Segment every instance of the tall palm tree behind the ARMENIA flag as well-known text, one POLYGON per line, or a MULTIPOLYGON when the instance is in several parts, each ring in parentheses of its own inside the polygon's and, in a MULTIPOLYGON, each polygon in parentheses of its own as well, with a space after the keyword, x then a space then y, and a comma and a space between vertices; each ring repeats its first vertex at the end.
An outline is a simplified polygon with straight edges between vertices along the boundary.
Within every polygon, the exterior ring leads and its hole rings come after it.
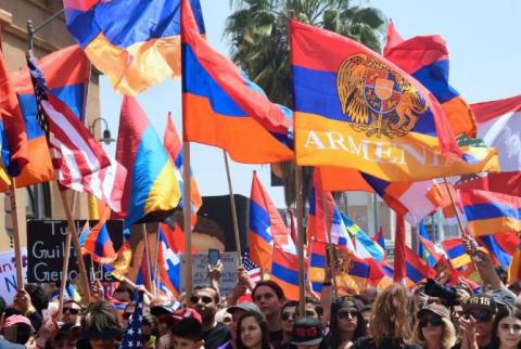
MULTIPOLYGON (((381 52, 385 18, 373 8, 350 7, 348 0, 230 0, 234 12, 225 35, 231 57, 276 103, 291 106, 288 13, 296 18, 357 40, 381 52)), ((281 164, 288 206, 295 202, 294 167, 281 164)), ((304 193, 310 186, 312 169, 303 171, 304 193)))

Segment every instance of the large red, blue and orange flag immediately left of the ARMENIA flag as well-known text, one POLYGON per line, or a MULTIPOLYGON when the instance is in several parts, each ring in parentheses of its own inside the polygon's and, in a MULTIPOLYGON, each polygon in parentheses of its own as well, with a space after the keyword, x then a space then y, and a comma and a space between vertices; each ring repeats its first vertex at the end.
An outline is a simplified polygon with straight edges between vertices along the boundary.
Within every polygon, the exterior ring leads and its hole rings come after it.
POLYGON ((183 138, 226 150, 239 163, 265 164, 293 157, 287 108, 201 37, 189 2, 182 1, 183 138))

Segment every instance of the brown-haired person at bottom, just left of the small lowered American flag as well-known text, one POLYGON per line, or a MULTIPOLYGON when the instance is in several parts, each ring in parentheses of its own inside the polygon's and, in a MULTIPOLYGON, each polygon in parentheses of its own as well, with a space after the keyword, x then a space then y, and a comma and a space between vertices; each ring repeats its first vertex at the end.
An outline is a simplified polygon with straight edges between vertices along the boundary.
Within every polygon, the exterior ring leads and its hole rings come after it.
POLYGON ((124 328, 119 326, 117 311, 105 300, 89 303, 81 319, 81 332, 92 349, 115 349, 124 328))

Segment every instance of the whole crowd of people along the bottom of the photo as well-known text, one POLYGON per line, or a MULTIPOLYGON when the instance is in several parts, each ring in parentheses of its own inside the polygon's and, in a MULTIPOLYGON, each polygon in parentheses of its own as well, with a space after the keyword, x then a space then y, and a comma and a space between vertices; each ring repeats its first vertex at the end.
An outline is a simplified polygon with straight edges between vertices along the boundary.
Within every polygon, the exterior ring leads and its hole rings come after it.
POLYGON ((336 295, 328 271, 320 297, 309 293, 303 307, 272 281, 254 284, 242 268, 236 290, 221 297, 219 264, 208 267, 207 285, 178 299, 136 301, 143 288, 124 284, 106 295, 96 281, 88 303, 67 299, 60 314, 43 287, 29 284, 1 309, 0 348, 521 348, 521 282, 506 284, 485 253, 473 257, 479 293, 428 280, 336 295), (135 316, 138 328, 129 326, 135 316), (138 339, 125 339, 129 332, 138 339))

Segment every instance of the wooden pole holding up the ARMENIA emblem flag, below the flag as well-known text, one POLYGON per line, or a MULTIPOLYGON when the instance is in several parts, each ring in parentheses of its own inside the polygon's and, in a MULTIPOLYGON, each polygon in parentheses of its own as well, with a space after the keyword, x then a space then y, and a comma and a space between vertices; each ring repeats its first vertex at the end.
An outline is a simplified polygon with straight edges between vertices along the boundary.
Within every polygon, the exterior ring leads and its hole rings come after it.
POLYGON ((296 240, 298 255, 298 312, 301 316, 306 313, 305 286, 304 286, 304 203, 302 199, 302 167, 295 163, 295 193, 296 193, 296 240))

